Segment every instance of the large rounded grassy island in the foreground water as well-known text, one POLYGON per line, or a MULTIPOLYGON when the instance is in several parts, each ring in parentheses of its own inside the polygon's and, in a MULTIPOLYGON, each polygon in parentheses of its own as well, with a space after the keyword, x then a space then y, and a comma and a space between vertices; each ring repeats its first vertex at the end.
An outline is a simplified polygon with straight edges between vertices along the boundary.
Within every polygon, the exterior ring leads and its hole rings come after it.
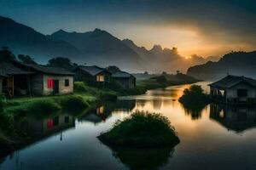
POLYGON ((124 121, 116 122, 98 139, 104 144, 126 147, 175 146, 180 142, 177 133, 166 116, 136 111, 124 121))

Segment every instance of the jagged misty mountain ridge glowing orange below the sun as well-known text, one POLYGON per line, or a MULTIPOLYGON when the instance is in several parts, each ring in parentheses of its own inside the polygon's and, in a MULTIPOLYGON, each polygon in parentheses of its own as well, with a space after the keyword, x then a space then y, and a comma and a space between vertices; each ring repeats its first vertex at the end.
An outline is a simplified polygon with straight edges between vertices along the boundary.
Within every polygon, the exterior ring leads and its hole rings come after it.
POLYGON ((154 72, 161 71, 187 71, 191 65, 200 65, 206 63, 206 59, 193 55, 190 59, 178 54, 177 48, 162 48, 160 45, 154 45, 151 49, 138 47, 130 39, 125 39, 124 42, 128 47, 139 54, 142 59, 148 64, 148 68, 154 72))

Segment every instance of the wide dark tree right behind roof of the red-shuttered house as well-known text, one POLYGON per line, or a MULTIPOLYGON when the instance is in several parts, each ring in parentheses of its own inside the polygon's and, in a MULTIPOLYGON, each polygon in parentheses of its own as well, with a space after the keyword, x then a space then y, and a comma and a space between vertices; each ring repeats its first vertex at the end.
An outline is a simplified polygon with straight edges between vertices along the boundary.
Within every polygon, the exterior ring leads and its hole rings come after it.
POLYGON ((64 57, 57 57, 54 59, 49 59, 47 65, 53 66, 53 67, 64 68, 68 71, 72 71, 76 66, 78 66, 76 63, 71 62, 70 59, 67 59, 64 57))

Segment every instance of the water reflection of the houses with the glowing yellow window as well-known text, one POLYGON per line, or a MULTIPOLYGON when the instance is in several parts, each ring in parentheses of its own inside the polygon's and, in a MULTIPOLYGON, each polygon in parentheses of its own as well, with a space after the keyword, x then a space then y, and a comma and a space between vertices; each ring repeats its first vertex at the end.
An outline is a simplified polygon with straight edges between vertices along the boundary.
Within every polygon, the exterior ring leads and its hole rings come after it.
POLYGON ((113 112, 122 111, 128 113, 134 107, 135 100, 117 100, 117 102, 98 105, 96 108, 87 111, 85 115, 80 118, 80 121, 93 122, 95 124, 105 122, 112 116, 113 112))

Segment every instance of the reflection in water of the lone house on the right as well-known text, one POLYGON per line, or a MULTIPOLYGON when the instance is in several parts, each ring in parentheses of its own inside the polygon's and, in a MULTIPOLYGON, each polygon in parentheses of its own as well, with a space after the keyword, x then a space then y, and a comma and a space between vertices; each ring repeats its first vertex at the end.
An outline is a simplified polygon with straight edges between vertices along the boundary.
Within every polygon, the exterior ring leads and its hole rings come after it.
POLYGON ((229 130, 240 133, 256 127, 256 108, 229 105, 210 105, 210 118, 229 130))

